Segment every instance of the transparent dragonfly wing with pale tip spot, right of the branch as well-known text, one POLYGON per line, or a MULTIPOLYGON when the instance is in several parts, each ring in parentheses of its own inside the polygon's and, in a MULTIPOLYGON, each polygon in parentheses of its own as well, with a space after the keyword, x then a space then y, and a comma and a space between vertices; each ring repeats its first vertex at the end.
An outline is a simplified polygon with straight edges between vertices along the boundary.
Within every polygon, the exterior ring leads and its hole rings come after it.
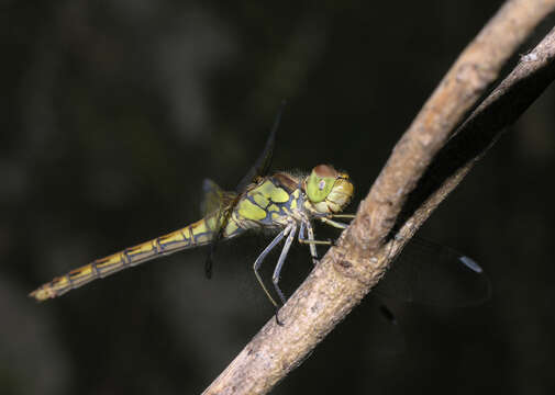
POLYGON ((392 262, 376 292, 404 302, 464 307, 487 301, 491 285, 471 258, 446 246, 413 238, 392 262))

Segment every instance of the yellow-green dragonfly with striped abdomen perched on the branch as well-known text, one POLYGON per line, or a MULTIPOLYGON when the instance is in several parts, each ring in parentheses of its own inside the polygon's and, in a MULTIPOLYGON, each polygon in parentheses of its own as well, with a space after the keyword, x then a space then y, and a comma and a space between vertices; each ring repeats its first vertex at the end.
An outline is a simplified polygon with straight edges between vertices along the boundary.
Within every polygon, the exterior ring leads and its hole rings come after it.
MULTIPOLYGON (((278 111, 263 153, 243 177, 235 191, 224 191, 215 182, 204 180, 206 215, 201 219, 74 269, 41 285, 31 292, 30 296, 40 302, 55 298, 123 269, 180 250, 207 245, 210 246, 210 251, 206 271, 207 276, 210 276, 213 255, 219 242, 233 239, 247 230, 271 229, 276 236, 254 261, 253 271, 266 296, 276 307, 277 319, 279 306, 286 303, 286 296, 279 286, 280 273, 296 237, 299 244, 309 247, 312 262, 317 264, 319 259, 317 246, 330 246, 333 245, 333 240, 315 239, 313 223, 344 229, 347 224, 337 219, 354 217, 352 214, 343 214, 343 210, 349 204, 354 194, 354 184, 347 172, 338 171, 331 165, 319 165, 308 174, 288 171, 269 174, 276 131, 284 106, 285 103, 278 111), (276 301, 263 281, 259 269, 268 253, 282 241, 284 246, 271 276, 274 291, 278 296, 276 301)), ((475 261, 452 249, 431 244, 424 244, 423 248, 422 245, 419 248, 414 246, 418 247, 418 244, 411 241, 406 249, 415 250, 415 255, 403 253, 401 257, 419 257, 418 262, 439 261, 444 268, 455 268, 458 278, 470 274, 470 283, 474 276, 480 278, 482 274, 481 268, 475 261), (463 272, 463 275, 458 272, 463 272)), ((412 259, 401 259, 401 261, 409 260, 412 259)), ((417 263, 410 267, 399 264, 399 268, 408 267, 418 272, 417 263)), ((418 300, 418 292, 414 292, 412 287, 402 286, 396 292, 404 292, 407 300, 418 300)))

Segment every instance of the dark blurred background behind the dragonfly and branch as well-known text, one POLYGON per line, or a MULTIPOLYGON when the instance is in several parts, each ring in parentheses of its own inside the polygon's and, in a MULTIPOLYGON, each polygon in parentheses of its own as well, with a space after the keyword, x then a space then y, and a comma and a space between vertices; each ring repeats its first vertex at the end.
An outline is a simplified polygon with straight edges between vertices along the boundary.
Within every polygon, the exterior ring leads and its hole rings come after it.
MULTIPOLYGON (((189 250, 59 300, 26 294, 198 219, 202 179, 236 184, 282 98, 274 167, 332 162, 359 200, 501 3, 4 2, 0 393, 200 393, 273 314, 248 240, 225 247, 210 281, 206 250, 189 250)), ((275 394, 555 391, 554 99, 552 87, 421 232, 475 257, 491 300, 398 304, 402 329, 365 301, 275 394)), ((309 270, 296 251, 288 293, 309 270)))

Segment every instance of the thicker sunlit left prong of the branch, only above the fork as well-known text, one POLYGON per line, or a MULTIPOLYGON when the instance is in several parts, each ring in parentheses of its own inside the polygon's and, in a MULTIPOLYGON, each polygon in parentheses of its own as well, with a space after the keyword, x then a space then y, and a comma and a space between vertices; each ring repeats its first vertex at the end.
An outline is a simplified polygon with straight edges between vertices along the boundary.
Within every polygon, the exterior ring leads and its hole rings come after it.
POLYGON ((365 248, 382 242, 432 158, 498 77, 507 59, 553 10, 553 3, 508 1, 460 54, 396 145, 360 205, 356 222, 365 226, 354 238, 365 248))

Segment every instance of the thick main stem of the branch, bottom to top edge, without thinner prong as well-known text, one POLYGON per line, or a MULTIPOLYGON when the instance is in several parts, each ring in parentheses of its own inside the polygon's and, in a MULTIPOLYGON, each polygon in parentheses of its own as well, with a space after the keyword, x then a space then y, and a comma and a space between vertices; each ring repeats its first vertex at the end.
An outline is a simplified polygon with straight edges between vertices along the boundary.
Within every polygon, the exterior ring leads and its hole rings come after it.
MULTIPOLYGON (((270 319, 204 394, 267 393, 302 363, 369 292, 408 240, 402 237, 384 245, 393 225, 399 218, 409 218, 401 230, 403 236, 411 236, 468 171, 464 167, 473 156, 463 158, 463 165, 455 167, 424 198, 413 201, 409 194, 465 113, 497 78, 504 61, 554 8, 555 0, 509 1, 501 8, 460 55, 398 143, 340 245, 330 249, 282 307, 280 318, 285 325, 278 326, 270 319), (411 202, 417 202, 415 210, 406 212, 404 206, 411 202)), ((540 92, 526 93, 532 102, 540 92)), ((452 140, 463 135, 466 135, 464 127, 452 140)))

